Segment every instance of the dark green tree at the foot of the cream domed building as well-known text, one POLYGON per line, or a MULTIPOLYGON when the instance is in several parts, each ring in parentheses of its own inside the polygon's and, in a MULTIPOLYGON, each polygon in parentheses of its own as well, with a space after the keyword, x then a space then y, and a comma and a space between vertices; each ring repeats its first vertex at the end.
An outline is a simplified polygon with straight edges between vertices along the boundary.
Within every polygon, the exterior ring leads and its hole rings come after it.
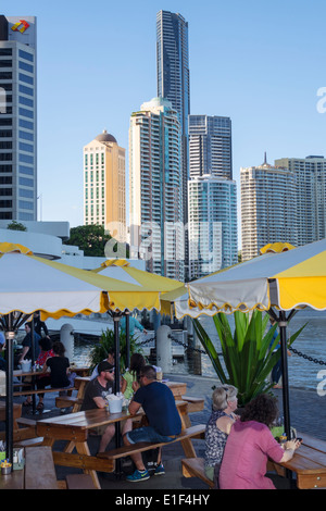
POLYGON ((64 245, 75 245, 84 250, 84 256, 105 257, 104 247, 112 236, 102 225, 79 225, 71 228, 71 237, 64 245))

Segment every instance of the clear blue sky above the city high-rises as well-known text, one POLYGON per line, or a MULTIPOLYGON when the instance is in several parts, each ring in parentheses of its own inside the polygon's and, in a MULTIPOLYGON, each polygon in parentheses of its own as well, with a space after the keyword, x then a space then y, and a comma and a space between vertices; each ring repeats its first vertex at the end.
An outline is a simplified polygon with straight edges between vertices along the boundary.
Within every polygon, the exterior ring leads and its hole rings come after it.
MULTIPOLYGON (((7 2, 7 5, 9 2, 7 2)), ((38 194, 43 221, 83 224, 83 147, 156 96, 155 18, 189 23, 190 111, 233 121, 234 178, 277 158, 326 155, 325 0, 12 0, 38 23, 38 194)), ((39 219, 40 220, 40 219, 39 219)))

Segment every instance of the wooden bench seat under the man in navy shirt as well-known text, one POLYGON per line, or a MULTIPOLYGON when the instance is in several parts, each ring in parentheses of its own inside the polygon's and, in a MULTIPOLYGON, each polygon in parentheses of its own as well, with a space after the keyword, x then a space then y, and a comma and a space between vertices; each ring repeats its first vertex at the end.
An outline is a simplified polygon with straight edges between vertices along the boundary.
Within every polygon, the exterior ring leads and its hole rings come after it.
POLYGON ((164 447, 166 445, 173 444, 175 441, 183 441, 187 438, 202 438, 202 435, 205 432, 204 424, 198 424, 196 426, 187 427, 183 429, 181 433, 172 441, 168 443, 150 443, 150 441, 140 441, 131 446, 123 446, 117 449, 111 449, 110 451, 99 452, 98 458, 105 458, 108 460, 117 460, 118 458, 124 458, 133 454, 134 452, 142 452, 150 449, 156 449, 156 447, 164 447))

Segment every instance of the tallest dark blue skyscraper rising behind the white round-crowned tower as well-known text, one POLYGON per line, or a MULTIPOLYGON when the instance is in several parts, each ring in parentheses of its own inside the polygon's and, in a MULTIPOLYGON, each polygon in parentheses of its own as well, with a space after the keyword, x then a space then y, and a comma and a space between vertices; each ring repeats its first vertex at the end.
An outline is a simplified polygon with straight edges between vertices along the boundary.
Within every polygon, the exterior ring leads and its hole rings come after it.
MULTIPOLYGON (((190 114, 190 76, 188 23, 179 13, 160 11, 156 15, 158 97, 171 101, 179 115, 181 132, 181 186, 184 224, 188 222, 187 182, 188 115, 190 114)), ((187 246, 186 246, 187 257, 187 246)))

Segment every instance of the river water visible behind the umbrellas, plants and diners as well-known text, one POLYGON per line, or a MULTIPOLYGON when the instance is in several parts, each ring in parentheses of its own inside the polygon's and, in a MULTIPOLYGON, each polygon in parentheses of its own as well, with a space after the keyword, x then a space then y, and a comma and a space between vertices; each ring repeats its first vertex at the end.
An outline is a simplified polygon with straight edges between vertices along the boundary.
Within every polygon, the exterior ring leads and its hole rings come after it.
MULTIPOLYGON (((221 345, 216 331, 214 329, 213 320, 206 316, 201 316, 200 321, 206 332, 210 334, 217 352, 221 352, 221 345)), ((231 315, 229 315, 229 322, 231 328, 234 328, 234 320, 231 315)), ((308 357, 311 357, 312 359, 317 359, 326 363, 326 312, 317 312, 311 309, 298 311, 287 327, 287 336, 289 337, 305 323, 308 323, 305 328, 296 339, 292 348, 296 348, 296 350, 304 353, 308 357)), ((91 345, 89 344, 75 344, 74 361, 78 365, 88 364, 88 354, 91 345)), ((317 364, 293 353, 291 357, 288 357, 288 369, 289 383, 290 386, 293 387, 316 389, 318 383, 325 378, 321 371, 325 371, 324 374, 326 375, 325 364, 317 364)), ((191 373, 192 364, 191 361, 188 364, 187 360, 184 360, 183 362, 176 362, 172 369, 172 374, 191 373)), ((215 377, 211 361, 206 354, 201 354, 201 374, 204 376, 215 377)))

